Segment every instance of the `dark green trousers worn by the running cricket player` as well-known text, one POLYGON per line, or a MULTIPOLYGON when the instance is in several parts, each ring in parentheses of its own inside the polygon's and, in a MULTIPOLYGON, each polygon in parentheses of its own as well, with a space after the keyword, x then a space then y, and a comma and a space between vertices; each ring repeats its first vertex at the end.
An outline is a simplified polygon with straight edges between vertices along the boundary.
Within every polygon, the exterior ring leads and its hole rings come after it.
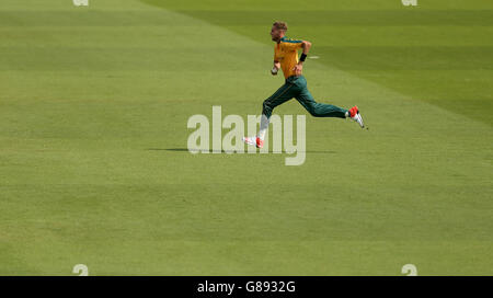
POLYGON ((289 77, 286 83, 279 88, 271 98, 266 99, 263 104, 262 114, 271 117, 272 111, 277 105, 295 98, 310 115, 314 117, 339 117, 345 118, 347 110, 332 105, 318 103, 314 101, 307 88, 307 80, 303 76, 289 77))

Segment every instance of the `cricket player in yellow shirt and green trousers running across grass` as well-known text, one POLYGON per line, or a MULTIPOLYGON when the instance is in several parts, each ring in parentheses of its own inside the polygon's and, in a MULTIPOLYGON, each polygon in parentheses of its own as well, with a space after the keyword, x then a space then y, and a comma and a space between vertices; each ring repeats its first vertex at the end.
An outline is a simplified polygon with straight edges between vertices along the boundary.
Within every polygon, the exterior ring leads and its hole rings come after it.
POLYGON ((276 76, 279 68, 282 68, 286 82, 271 98, 264 101, 259 135, 256 137, 244 137, 244 142, 262 148, 264 146, 265 134, 268 129, 268 118, 272 115, 272 111, 277 105, 293 98, 314 117, 351 117, 364 128, 365 125, 363 124, 363 118, 357 106, 345 110, 314 101, 308 91, 307 80, 301 74, 311 43, 289 39, 285 36, 286 31, 287 24, 285 22, 275 22, 271 30, 272 41, 276 43, 274 47, 274 67, 271 72, 273 76, 276 76), (298 49, 300 48, 303 51, 298 60, 298 49))

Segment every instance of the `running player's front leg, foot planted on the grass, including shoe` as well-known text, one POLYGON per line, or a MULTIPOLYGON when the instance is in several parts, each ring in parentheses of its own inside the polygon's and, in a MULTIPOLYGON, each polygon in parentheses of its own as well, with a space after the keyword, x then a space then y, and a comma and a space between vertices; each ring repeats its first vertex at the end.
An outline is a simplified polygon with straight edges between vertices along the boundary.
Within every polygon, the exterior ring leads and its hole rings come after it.
POLYGON ((262 104, 262 116, 259 135, 255 137, 243 138, 244 142, 262 148, 264 145, 265 134, 268 129, 268 119, 271 118, 272 111, 279 104, 283 104, 295 98, 298 91, 299 90, 297 85, 293 83, 285 83, 274 94, 266 99, 262 104))

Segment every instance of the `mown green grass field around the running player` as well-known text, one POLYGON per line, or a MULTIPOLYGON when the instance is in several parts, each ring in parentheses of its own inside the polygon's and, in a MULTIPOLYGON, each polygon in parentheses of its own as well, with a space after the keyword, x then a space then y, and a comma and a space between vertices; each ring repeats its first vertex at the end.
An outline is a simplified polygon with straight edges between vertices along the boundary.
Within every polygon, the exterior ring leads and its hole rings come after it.
POLYGON ((492 275, 493 3, 417 1, 2 0, 0 275, 492 275), (191 154, 190 116, 283 83, 275 20, 370 129, 191 154))

